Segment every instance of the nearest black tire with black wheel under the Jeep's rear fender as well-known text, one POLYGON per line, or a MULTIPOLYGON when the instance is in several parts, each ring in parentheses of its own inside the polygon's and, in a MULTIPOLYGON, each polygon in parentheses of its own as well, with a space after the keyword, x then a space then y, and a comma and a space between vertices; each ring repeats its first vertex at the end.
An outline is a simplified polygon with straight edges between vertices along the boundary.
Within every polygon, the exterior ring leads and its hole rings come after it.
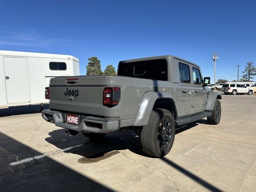
POLYGON ((163 157, 172 148, 175 136, 174 118, 166 109, 153 109, 148 124, 140 133, 143 150, 152 156, 163 157))

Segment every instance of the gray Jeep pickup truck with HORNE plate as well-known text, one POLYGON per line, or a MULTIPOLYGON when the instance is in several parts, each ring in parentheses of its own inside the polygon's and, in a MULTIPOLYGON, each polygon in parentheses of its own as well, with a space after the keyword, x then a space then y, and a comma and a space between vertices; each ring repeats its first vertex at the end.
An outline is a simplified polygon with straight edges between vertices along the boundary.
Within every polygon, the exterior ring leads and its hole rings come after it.
POLYGON ((207 117, 218 124, 221 95, 208 91, 210 78, 199 66, 176 56, 156 56, 119 62, 117 76, 72 76, 50 80, 42 117, 100 139, 115 130, 135 130, 144 151, 162 157, 170 152, 175 126, 207 117))

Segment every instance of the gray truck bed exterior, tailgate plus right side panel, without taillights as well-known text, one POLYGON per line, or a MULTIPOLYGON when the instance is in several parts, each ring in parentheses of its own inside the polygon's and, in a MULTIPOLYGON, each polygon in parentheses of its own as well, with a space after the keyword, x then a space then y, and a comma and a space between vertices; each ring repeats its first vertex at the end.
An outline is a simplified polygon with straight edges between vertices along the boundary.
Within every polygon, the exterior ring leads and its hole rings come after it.
POLYGON ((163 91, 171 86, 170 82, 124 76, 53 78, 50 82, 50 108, 90 116, 118 118, 128 120, 130 124, 135 118, 145 92, 163 91), (117 106, 103 105, 104 87, 120 88, 121 98, 117 106), (68 91, 71 95, 67 94, 68 91))

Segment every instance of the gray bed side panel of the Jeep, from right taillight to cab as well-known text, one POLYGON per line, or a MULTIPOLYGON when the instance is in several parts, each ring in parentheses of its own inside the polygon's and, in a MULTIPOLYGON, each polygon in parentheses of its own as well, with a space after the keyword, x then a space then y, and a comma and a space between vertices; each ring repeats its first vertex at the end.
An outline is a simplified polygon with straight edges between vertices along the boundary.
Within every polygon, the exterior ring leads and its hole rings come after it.
POLYGON ((114 86, 121 88, 120 103, 112 108, 104 106, 106 118, 118 117, 121 120, 134 119, 141 104, 142 96, 149 91, 163 91, 172 94, 175 86, 168 81, 131 78, 124 76, 105 76, 104 87, 114 86))

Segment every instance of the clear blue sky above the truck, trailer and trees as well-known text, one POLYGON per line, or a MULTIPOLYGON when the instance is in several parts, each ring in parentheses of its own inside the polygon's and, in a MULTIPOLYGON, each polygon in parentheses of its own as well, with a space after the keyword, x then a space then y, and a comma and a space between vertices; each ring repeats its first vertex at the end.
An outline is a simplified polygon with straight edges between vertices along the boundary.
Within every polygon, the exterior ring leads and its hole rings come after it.
MULTIPOLYGON (((120 60, 172 54, 216 78, 236 79, 238 64, 256 65, 256 1, 1 0, 0 50, 70 54, 86 74, 120 60)), ((256 80, 256 78, 254 79, 256 80)))

